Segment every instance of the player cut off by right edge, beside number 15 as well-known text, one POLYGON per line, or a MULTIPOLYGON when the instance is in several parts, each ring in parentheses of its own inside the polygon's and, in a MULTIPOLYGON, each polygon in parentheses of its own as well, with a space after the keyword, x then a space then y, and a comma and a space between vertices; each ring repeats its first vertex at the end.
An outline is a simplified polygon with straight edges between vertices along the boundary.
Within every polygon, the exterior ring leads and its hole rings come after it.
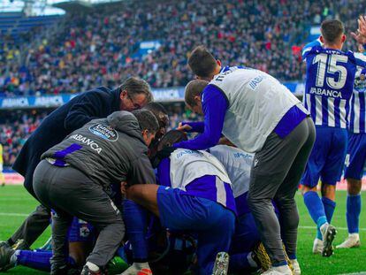
POLYGON ((360 246, 359 217, 361 213, 361 187, 363 166, 366 162, 366 69, 356 73, 355 90, 351 99, 348 127, 348 149, 345 167, 347 180, 348 237, 337 248, 360 246))

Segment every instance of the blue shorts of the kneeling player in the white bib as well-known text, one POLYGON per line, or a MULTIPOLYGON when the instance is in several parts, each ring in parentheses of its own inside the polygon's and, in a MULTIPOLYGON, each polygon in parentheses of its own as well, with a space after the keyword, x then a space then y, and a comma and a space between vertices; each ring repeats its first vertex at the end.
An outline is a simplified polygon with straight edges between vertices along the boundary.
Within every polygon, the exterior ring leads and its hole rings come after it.
POLYGON ((211 275, 217 253, 229 251, 235 226, 233 212, 218 202, 171 187, 157 189, 157 207, 164 227, 196 234, 198 272, 211 275))

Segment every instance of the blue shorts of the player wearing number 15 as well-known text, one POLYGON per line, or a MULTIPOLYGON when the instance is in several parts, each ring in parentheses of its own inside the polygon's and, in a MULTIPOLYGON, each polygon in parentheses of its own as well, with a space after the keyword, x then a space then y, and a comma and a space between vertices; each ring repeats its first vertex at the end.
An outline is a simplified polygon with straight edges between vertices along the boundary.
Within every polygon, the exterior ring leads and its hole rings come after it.
POLYGON ((316 127, 316 141, 311 151, 301 184, 316 187, 322 182, 335 185, 342 175, 347 153, 347 130, 316 127))

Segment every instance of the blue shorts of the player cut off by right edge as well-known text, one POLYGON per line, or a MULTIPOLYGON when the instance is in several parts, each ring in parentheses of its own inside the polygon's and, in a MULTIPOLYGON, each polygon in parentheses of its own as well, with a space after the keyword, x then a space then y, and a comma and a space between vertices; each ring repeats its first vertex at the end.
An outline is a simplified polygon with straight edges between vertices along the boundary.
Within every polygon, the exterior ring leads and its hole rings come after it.
POLYGON ((345 178, 361 180, 366 162, 366 134, 348 133, 345 178))

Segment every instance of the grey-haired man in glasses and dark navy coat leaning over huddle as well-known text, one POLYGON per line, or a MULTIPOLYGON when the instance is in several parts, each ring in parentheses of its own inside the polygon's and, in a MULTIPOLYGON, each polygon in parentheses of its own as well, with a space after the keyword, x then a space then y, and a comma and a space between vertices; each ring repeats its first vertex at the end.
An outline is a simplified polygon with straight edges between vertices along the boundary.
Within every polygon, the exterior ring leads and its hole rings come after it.
MULTIPOLYGON (((24 186, 34 195, 34 169, 47 149, 94 118, 106 118, 114 111, 140 109, 150 101, 152 94, 149 84, 133 77, 114 90, 100 87, 77 95, 44 118, 42 124, 24 144, 13 169, 24 176, 24 186)), ((17 240, 24 240, 22 248, 31 246, 50 224, 49 221, 50 210, 42 205, 38 206, 17 232, 8 241, 0 243, 0 246, 12 246, 17 240)))

